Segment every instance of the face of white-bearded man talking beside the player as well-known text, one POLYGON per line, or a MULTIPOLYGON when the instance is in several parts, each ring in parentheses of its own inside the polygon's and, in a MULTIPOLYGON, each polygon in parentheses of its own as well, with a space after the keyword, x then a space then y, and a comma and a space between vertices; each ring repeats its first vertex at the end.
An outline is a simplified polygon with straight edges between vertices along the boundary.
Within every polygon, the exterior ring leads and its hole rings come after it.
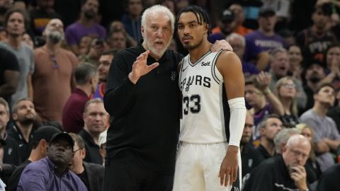
POLYGON ((146 49, 158 57, 169 47, 173 34, 169 17, 162 13, 151 13, 142 26, 146 49))

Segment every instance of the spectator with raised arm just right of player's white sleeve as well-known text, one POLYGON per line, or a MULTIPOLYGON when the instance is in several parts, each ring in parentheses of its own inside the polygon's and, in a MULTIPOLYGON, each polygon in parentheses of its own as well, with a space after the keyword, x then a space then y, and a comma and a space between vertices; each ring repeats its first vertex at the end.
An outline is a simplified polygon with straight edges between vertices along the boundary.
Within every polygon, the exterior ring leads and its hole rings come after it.
POLYGON ((259 146, 261 137, 259 122, 271 113, 276 113, 279 116, 284 114, 282 103, 268 88, 270 79, 270 76, 262 71, 258 76, 246 79, 245 83, 244 97, 246 103, 252 107, 250 112, 254 115, 253 141, 255 146, 259 146))

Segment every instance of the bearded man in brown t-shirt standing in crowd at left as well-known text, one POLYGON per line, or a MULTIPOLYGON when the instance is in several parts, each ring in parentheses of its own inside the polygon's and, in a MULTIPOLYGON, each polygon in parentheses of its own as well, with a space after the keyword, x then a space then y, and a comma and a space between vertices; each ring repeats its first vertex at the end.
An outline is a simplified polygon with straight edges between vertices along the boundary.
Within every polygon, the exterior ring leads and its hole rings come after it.
POLYGON ((33 101, 42 122, 62 123, 62 110, 75 87, 73 72, 78 59, 60 47, 64 39, 62 21, 52 19, 43 35, 46 44, 34 50, 33 101))

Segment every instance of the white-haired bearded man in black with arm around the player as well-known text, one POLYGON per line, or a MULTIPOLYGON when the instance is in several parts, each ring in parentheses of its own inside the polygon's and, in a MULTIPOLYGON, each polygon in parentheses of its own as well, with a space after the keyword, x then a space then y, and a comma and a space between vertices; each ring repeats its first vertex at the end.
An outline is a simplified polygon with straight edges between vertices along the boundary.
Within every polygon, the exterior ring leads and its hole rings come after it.
POLYGON ((142 16, 144 41, 118 52, 104 104, 111 115, 104 190, 172 190, 181 112, 178 63, 167 50, 174 15, 164 6, 142 16))

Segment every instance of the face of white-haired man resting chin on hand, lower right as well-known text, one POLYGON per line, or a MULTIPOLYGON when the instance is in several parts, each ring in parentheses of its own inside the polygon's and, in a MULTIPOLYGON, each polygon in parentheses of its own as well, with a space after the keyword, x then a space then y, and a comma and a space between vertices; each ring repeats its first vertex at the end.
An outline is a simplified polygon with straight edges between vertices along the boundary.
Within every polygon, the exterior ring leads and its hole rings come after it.
POLYGON ((307 141, 298 141, 285 146, 283 149, 283 159, 287 166, 297 164, 305 166, 310 154, 310 143, 307 141))

